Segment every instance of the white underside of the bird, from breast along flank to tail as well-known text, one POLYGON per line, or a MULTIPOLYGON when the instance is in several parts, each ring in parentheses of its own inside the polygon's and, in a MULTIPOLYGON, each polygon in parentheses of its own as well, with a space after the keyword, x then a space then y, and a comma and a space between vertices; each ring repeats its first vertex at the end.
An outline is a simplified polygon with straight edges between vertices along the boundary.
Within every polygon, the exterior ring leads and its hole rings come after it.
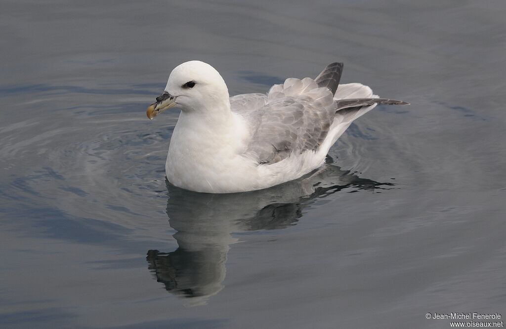
MULTIPOLYGON (((240 126, 239 124, 237 126, 240 126)), ((217 129, 217 131, 220 131, 217 129)), ((223 131, 223 130, 222 130, 223 131)), ((269 165, 244 156, 241 134, 209 133, 181 120, 174 129, 165 172, 168 181, 186 190, 235 193, 266 189, 297 179, 321 166, 332 143, 318 152, 306 151, 269 165)))

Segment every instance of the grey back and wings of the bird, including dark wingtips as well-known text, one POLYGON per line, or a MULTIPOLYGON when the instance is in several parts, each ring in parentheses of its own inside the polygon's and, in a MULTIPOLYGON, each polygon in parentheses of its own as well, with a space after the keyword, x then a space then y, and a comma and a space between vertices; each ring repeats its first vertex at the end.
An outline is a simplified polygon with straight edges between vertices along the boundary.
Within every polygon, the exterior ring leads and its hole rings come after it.
POLYGON ((379 98, 333 99, 342 70, 343 63, 332 63, 315 80, 288 78, 267 95, 231 97, 232 111, 245 119, 251 131, 245 154, 259 164, 273 164, 291 154, 317 151, 337 117, 351 123, 372 105, 408 104, 379 98))

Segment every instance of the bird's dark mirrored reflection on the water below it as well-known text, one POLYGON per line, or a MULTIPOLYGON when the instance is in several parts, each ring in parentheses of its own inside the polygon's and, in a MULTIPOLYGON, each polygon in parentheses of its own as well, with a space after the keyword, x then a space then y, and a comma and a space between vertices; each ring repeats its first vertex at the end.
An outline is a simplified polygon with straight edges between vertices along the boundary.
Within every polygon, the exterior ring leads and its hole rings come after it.
POLYGON ((331 164, 303 178, 245 193, 195 193, 167 183, 166 212, 179 247, 168 253, 149 250, 148 268, 167 291, 187 297, 188 305, 205 304, 223 289, 229 245, 237 241, 232 232, 286 228, 316 199, 347 188, 374 191, 392 185, 331 164))

